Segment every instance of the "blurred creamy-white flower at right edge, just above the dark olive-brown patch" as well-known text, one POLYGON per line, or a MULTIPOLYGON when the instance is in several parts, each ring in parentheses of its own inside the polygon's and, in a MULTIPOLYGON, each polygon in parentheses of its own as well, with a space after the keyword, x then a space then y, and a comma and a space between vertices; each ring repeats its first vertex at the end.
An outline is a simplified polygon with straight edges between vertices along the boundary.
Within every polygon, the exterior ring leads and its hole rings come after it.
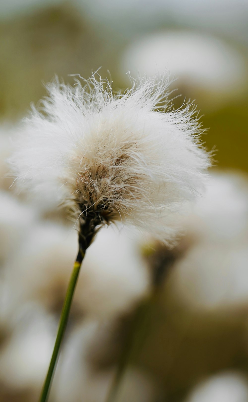
POLYGON ((175 266, 171 290, 183 304, 197 309, 247 305, 247 263, 247 242, 240 246, 196 244, 175 266))

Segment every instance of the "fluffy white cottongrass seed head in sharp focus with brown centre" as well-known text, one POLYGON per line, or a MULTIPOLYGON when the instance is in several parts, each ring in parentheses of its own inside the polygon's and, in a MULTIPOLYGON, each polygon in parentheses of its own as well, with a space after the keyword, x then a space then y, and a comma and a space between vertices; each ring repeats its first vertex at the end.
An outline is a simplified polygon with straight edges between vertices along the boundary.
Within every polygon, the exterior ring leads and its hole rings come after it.
POLYGON ((173 216, 201 193, 210 165, 192 104, 173 109, 157 76, 124 94, 96 73, 47 90, 10 160, 18 186, 68 204, 79 224, 93 213, 169 243, 173 216))

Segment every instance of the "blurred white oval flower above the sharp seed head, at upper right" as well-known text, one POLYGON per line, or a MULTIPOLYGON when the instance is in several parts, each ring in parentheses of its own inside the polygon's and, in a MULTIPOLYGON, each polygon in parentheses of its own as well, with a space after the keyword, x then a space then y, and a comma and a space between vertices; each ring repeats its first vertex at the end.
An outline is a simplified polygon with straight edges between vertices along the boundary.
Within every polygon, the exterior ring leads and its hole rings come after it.
POLYGON ((213 105, 229 101, 247 86, 247 68, 238 51, 199 32, 171 31, 137 39, 124 51, 119 65, 122 76, 127 68, 131 75, 148 76, 167 69, 179 78, 176 86, 210 93, 213 105))

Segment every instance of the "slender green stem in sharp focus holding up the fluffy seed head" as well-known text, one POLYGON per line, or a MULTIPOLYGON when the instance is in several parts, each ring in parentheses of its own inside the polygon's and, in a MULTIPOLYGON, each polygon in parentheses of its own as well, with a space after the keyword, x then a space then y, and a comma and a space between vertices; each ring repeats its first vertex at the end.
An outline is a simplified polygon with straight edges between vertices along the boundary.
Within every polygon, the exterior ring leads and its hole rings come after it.
POLYGON ((65 328, 66 328, 66 324, 68 321, 69 312, 70 312, 70 308, 71 308, 71 302, 73 299, 73 294, 74 294, 74 290, 75 290, 75 287, 77 284, 77 278, 79 275, 83 257, 84 257, 84 253, 82 251, 79 251, 77 259, 74 263, 73 271, 71 273, 71 279, 69 281, 69 285, 67 288, 65 301, 64 301, 63 309, 62 309, 61 316, 60 316, 57 337, 56 337, 56 341, 55 341, 55 345, 54 345, 54 349, 53 349, 53 355, 51 357, 51 362, 49 365, 49 369, 47 371, 47 377, 45 379, 45 382, 44 382, 44 385, 43 385, 43 388, 41 391, 41 396, 40 396, 39 402, 46 402, 47 398, 49 396, 49 389, 51 386, 51 381, 53 379, 53 372, 54 372, 55 365, 57 363, 57 359, 59 356, 59 349, 60 349, 60 345, 61 345, 61 342, 63 339, 63 335, 65 333, 65 328))

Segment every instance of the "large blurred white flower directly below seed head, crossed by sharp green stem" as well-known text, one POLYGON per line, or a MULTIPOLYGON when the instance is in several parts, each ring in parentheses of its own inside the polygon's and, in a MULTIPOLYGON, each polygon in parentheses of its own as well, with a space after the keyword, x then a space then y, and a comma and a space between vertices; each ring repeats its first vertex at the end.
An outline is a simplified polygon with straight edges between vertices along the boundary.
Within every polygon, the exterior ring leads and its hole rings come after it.
MULTIPOLYGON (((75 290, 78 319, 85 314, 100 319, 117 316, 148 291, 150 278, 140 244, 133 231, 118 231, 112 225, 97 234, 75 290)), ((28 228, 18 252, 4 265, 1 306, 9 323, 26 302, 37 301, 50 313, 60 312, 76 251, 75 230, 68 234, 67 227, 50 222, 35 222, 28 228)))

